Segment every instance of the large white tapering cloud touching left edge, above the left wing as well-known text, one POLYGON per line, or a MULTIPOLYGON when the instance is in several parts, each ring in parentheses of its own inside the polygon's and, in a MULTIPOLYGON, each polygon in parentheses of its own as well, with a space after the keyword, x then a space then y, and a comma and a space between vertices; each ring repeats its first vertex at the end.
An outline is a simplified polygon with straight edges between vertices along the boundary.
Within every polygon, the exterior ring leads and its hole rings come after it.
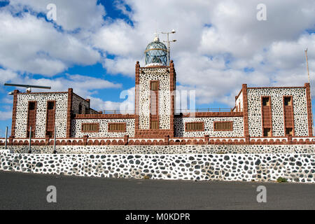
POLYGON ((53 76, 73 64, 100 59, 90 46, 29 13, 13 17, 0 10, 0 26, 0 65, 13 71, 53 76))

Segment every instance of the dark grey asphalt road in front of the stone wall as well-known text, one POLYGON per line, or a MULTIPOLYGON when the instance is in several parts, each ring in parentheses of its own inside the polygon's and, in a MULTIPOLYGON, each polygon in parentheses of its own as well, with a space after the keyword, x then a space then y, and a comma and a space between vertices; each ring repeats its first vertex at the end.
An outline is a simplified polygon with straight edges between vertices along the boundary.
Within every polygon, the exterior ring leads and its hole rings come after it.
POLYGON ((315 184, 98 179, 0 172, 0 209, 315 209, 315 184), (48 203, 48 186, 57 203, 48 203), (267 202, 258 203, 258 186, 267 202))

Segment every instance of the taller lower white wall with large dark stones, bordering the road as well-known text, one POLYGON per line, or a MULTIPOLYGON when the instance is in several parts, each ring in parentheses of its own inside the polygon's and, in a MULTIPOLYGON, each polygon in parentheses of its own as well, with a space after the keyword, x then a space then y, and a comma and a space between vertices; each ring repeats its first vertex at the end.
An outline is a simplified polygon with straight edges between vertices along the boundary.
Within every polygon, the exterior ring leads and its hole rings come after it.
POLYGON ((108 178, 315 183, 312 154, 76 155, 0 151, 0 170, 108 178))

